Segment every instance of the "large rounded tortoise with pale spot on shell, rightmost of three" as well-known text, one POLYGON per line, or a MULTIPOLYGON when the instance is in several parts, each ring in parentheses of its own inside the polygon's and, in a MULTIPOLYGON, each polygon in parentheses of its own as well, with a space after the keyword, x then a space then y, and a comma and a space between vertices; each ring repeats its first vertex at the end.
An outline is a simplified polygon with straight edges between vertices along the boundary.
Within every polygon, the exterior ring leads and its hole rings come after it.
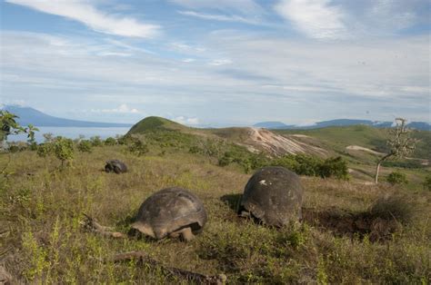
POLYGON ((247 182, 238 213, 272 226, 302 218, 303 188, 298 175, 283 167, 266 167, 247 182))

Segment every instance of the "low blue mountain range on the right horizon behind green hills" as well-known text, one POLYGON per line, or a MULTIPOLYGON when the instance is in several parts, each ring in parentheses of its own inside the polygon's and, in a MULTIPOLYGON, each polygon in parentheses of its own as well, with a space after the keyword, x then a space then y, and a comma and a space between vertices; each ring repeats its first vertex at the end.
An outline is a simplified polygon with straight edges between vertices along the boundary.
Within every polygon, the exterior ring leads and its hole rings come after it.
MULTIPOLYGON (((312 129, 320 129, 320 128, 326 128, 326 127, 333 127, 333 126, 349 126, 349 125, 356 125, 356 124, 369 125, 376 128, 389 128, 392 126, 393 122, 336 119, 336 120, 330 120, 330 121, 317 122, 315 124, 307 125, 307 126, 286 125, 285 123, 281 123, 281 122, 256 123, 254 126, 266 128, 266 129, 273 129, 273 130, 312 130, 312 129), (276 123, 276 124, 272 124, 272 123, 276 123), (282 124, 284 126, 282 126, 282 124)), ((425 122, 411 122, 411 123, 407 123, 407 126, 409 128, 420 130, 420 131, 431 131, 431 124, 425 123, 425 122)))

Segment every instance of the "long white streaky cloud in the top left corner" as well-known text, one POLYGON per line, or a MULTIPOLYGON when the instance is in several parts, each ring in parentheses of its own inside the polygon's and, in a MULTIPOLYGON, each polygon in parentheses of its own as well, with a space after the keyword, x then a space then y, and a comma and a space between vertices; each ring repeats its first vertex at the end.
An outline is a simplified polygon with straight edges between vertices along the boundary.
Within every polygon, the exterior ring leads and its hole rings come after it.
POLYGON ((6 0, 6 2, 47 14, 64 16, 105 34, 148 38, 154 37, 160 30, 159 25, 143 24, 131 17, 106 14, 85 0, 6 0))

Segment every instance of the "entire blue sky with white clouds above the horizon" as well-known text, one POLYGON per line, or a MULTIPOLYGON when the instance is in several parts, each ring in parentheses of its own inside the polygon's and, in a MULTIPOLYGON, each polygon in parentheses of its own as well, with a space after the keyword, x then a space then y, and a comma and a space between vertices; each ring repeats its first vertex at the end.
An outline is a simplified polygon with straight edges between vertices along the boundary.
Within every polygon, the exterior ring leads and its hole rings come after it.
POLYGON ((192 126, 431 122, 427 0, 0 0, 0 103, 192 126))

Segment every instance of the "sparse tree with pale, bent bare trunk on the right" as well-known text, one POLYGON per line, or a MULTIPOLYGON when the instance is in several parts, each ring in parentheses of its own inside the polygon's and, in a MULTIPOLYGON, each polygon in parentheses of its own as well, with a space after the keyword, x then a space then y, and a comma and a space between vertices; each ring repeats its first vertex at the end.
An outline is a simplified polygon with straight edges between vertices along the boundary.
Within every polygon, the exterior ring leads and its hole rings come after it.
POLYGON ((378 183, 378 172, 380 171, 380 165, 387 159, 403 158, 407 154, 415 151, 416 140, 410 137, 410 130, 406 127, 406 119, 396 118, 396 126, 390 130, 390 138, 386 141, 389 147, 389 152, 386 153, 377 162, 375 182, 378 183))

